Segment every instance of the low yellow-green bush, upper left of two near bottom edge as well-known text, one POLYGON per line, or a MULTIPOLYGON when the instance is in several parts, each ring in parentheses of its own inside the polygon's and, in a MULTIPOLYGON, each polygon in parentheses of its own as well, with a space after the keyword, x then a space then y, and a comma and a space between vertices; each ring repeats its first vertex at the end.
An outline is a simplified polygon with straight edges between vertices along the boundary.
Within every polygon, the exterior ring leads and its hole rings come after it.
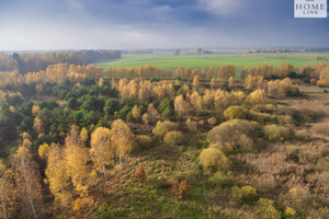
POLYGON ((242 186, 241 188, 235 186, 231 188, 231 196, 238 201, 251 204, 257 200, 257 191, 250 185, 242 186))

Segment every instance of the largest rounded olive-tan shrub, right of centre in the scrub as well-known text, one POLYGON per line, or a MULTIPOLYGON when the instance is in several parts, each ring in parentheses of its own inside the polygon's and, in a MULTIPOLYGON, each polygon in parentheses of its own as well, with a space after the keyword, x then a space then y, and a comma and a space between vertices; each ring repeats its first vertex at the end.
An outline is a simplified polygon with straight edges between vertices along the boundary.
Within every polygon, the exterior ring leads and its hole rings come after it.
POLYGON ((214 127, 207 136, 211 143, 220 143, 234 150, 251 150, 260 135, 261 128, 258 123, 234 119, 214 127))

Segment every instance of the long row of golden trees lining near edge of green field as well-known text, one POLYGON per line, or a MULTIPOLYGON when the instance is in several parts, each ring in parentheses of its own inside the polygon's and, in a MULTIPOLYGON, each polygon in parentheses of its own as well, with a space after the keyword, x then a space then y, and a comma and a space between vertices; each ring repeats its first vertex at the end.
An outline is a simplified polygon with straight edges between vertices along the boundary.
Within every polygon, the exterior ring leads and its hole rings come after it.
MULTIPOLYGON (((245 88, 252 90, 254 88, 261 88, 264 79, 271 78, 286 78, 290 73, 295 72, 295 68, 291 64, 282 64, 276 68, 272 65, 264 64, 258 67, 246 67, 241 71, 241 80, 245 81, 245 88)), ((307 76, 314 80, 320 80, 319 85, 326 85, 326 65, 318 64, 315 67, 303 66, 298 69, 298 72, 303 76, 307 76), (324 70, 324 73, 321 71, 324 70), (320 79, 321 77, 321 79, 320 79)), ((110 68, 106 72, 100 66, 79 66, 69 64, 50 65, 46 70, 38 72, 29 72, 25 76, 19 73, 19 71, 3 71, 0 72, 0 88, 7 85, 16 87, 22 82, 63 82, 65 79, 70 79, 76 82, 82 82, 87 78, 100 79, 185 79, 192 81, 197 77, 197 84, 193 84, 195 88, 200 85, 200 80, 211 80, 212 89, 223 89, 228 81, 229 88, 234 88, 234 79, 236 76, 235 66, 222 65, 218 67, 209 67, 203 69, 191 69, 179 67, 173 72, 172 69, 160 70, 157 67, 146 65, 137 68, 110 68)))

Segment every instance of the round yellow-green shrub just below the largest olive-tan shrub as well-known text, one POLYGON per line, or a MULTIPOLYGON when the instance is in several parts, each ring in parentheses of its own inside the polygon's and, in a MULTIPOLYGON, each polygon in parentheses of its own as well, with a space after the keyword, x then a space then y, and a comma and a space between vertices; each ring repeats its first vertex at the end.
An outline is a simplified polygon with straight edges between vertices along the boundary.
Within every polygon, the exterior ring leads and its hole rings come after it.
POLYGON ((203 149, 198 155, 198 160, 205 170, 222 170, 228 169, 230 161, 220 151, 215 148, 203 149))

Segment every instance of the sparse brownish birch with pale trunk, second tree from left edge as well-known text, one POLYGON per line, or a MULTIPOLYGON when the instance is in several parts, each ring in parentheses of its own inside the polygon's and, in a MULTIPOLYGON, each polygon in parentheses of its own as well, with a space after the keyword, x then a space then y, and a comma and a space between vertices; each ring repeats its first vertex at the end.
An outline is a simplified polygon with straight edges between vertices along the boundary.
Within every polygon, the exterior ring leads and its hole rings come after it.
POLYGON ((14 154, 13 165, 18 197, 31 206, 33 216, 36 218, 35 201, 42 198, 41 176, 37 171, 38 166, 26 147, 19 147, 14 154))

